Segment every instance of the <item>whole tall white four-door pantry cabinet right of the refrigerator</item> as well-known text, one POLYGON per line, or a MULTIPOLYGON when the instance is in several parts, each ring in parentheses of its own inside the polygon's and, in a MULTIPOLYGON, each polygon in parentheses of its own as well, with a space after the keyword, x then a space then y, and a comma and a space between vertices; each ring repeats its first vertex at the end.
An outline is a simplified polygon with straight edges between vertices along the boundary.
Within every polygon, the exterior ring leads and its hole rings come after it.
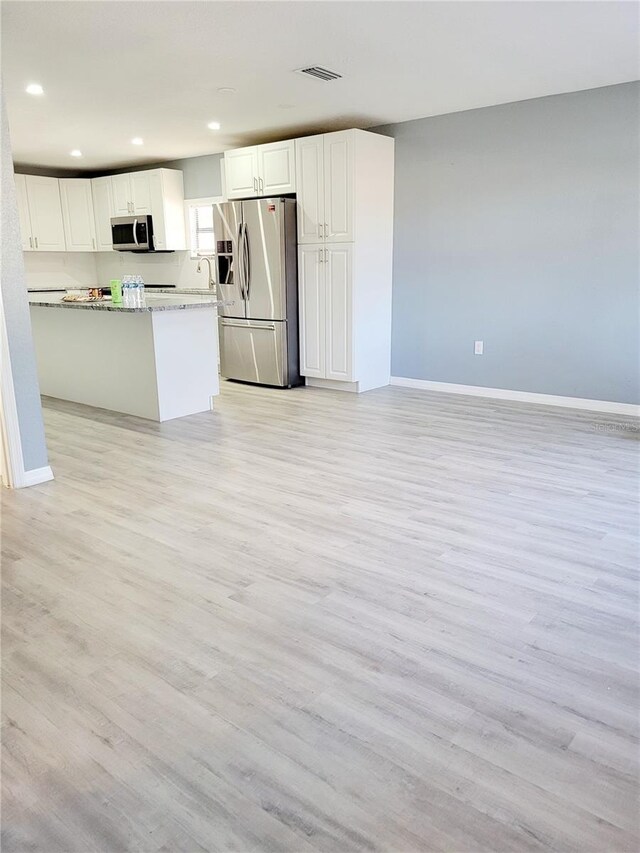
POLYGON ((389 384, 394 141, 296 140, 300 372, 307 385, 389 384))

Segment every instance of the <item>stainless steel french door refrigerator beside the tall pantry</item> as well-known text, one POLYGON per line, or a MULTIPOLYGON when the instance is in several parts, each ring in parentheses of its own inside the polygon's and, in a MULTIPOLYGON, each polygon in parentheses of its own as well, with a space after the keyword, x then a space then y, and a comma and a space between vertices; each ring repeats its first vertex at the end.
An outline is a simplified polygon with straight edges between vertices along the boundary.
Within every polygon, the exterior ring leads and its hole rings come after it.
POLYGON ((299 385, 296 202, 215 205, 220 373, 226 379, 299 385))

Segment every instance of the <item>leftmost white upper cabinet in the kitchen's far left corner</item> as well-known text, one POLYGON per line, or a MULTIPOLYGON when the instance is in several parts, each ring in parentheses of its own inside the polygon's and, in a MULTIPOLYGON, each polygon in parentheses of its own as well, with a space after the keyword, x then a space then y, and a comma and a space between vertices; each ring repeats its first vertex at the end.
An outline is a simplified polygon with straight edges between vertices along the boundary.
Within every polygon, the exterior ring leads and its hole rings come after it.
POLYGON ((64 225, 57 178, 16 175, 22 247, 27 251, 64 252, 64 225))

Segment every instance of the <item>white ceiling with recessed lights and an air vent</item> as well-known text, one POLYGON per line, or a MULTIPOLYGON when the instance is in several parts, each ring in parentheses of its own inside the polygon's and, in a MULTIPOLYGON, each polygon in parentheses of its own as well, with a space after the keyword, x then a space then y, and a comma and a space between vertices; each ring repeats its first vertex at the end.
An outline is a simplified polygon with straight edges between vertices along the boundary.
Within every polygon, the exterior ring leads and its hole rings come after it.
POLYGON ((621 83, 640 76, 638 8, 3 0, 14 159, 98 170, 621 83), (343 78, 293 73, 313 64, 343 78))

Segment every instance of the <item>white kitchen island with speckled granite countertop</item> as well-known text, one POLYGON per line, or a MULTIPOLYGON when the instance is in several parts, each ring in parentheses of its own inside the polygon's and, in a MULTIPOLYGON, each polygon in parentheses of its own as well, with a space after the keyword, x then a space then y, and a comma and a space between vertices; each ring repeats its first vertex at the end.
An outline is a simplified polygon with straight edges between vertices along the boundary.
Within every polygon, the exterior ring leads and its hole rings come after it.
POLYGON ((222 304, 214 296, 163 293, 125 308, 63 295, 29 294, 42 394, 154 421, 212 408, 222 304))

